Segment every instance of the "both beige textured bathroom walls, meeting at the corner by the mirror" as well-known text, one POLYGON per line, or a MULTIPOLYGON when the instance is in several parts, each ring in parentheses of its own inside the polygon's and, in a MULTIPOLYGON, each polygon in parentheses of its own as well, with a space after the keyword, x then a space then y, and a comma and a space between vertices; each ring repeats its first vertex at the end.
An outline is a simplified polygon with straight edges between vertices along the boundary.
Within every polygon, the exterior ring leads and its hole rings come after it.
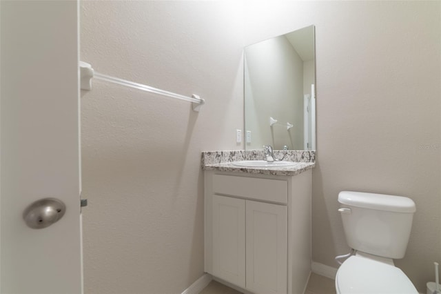
POLYGON ((440 5, 83 2, 83 61, 207 99, 197 115, 184 102, 100 82, 83 97, 86 293, 181 293, 202 275, 200 152, 243 148, 234 142, 243 128, 243 46, 311 24, 313 259, 336 266, 334 256, 349 251, 340 190, 408 196, 417 213, 397 264, 424 291, 440 260, 440 5))

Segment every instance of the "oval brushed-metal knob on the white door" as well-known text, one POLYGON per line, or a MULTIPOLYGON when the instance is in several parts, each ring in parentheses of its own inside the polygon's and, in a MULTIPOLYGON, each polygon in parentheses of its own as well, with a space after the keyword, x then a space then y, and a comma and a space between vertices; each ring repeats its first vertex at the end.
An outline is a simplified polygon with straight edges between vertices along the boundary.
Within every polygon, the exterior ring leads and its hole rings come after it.
POLYGON ((59 199, 39 199, 23 212, 23 219, 30 228, 46 228, 63 217, 66 206, 59 199))

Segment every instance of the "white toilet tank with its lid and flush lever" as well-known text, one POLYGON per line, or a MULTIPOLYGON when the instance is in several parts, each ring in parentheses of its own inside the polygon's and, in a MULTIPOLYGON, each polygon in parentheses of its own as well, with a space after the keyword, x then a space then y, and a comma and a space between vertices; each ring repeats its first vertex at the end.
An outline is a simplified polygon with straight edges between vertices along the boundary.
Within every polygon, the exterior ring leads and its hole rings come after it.
POLYGON ((381 257, 404 257, 416 211, 412 199, 342 191, 338 202, 351 248, 381 257))

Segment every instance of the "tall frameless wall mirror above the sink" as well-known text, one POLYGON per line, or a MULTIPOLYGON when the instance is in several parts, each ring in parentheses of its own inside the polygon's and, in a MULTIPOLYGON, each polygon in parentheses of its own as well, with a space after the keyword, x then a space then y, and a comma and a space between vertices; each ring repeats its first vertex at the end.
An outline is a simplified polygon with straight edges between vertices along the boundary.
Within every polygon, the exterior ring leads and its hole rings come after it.
POLYGON ((316 150, 314 26, 245 47, 245 149, 316 150))

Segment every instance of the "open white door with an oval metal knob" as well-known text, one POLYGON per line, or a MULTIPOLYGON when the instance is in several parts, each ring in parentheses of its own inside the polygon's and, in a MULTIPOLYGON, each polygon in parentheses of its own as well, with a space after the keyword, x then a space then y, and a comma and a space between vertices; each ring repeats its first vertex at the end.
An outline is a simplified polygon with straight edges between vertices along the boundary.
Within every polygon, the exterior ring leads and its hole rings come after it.
POLYGON ((0 2, 0 293, 82 293, 78 8, 0 2), (65 215, 28 227, 46 197, 65 215))

